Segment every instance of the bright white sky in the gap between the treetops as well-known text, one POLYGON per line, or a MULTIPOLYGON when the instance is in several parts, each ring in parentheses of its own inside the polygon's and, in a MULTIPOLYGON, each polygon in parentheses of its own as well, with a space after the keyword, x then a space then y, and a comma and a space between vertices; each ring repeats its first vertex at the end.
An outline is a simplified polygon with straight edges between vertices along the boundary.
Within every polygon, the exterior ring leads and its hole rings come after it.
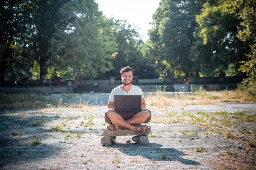
POLYGON ((107 18, 126 20, 135 27, 146 42, 148 30, 151 29, 152 16, 159 6, 160 0, 95 0, 99 5, 99 11, 107 18))

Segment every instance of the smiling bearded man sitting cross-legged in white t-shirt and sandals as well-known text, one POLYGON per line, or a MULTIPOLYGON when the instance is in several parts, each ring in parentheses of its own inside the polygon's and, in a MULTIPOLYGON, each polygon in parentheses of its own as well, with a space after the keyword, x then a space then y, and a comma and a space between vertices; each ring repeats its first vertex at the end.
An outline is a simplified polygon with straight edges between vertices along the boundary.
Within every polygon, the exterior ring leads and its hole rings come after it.
POLYGON ((130 129, 131 131, 146 132, 148 126, 140 125, 148 123, 151 119, 150 110, 146 109, 144 95, 140 87, 132 85, 133 69, 129 66, 121 68, 122 85, 112 89, 108 100, 108 109, 105 113, 105 121, 109 124, 108 130, 130 129), (141 95, 141 110, 131 112, 115 111, 115 95, 141 95))

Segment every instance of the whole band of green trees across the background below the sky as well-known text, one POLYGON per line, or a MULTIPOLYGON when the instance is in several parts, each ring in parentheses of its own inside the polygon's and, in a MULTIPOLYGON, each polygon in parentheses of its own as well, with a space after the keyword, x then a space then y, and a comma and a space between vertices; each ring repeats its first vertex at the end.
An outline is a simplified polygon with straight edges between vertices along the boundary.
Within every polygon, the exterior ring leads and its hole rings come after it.
POLYGON ((31 70, 77 82, 119 76, 130 65, 139 78, 245 73, 244 83, 255 85, 255 6, 253 0, 161 0, 143 42, 136 27, 107 19, 94 0, 3 0, 0 79, 10 79, 7 70, 31 70))

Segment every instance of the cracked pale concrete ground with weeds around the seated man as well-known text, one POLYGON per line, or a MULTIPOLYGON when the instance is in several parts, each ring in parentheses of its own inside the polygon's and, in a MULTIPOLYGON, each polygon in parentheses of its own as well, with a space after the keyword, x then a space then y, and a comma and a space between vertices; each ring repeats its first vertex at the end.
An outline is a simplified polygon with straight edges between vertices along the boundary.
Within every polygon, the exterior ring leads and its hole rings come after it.
MULTIPOLYGON (((54 97, 52 95, 51 97, 54 97)), ((55 96, 60 98, 61 96, 55 96)), ((66 169, 218 169, 216 162, 227 149, 235 150, 255 165, 255 156, 243 152, 243 144, 223 135, 206 133, 199 126, 182 124, 149 123, 153 134, 149 145, 138 145, 132 136, 117 137, 117 145, 102 146, 101 133, 108 94, 78 96, 65 102, 90 100, 97 107, 58 107, 2 111, 0 113, 0 169, 4 170, 66 170, 66 169), (96 99, 97 98, 97 99, 96 99), (42 121, 43 120, 43 121, 42 121), (41 123, 40 123, 41 122, 41 123), (90 122, 90 123, 89 123, 90 122), (36 126, 38 125, 38 126, 36 126), (58 129, 59 128, 59 129, 58 129), (58 131, 51 131, 58 129, 58 131), (61 130, 64 132, 60 132, 61 130), (180 131, 193 131, 194 138, 180 131), (130 143, 126 141, 130 140, 130 143), (41 142, 35 146, 35 141, 41 142), (240 148, 239 148, 240 147, 240 148), (202 152, 196 152, 203 148, 202 152)), ((196 113, 215 111, 254 112, 256 104, 225 104, 214 106, 170 107, 168 109, 196 113)), ((150 107, 155 116, 164 115, 150 107)), ((255 113, 255 112, 254 112, 255 113)), ((255 123, 251 124, 256 129, 255 123)), ((243 164, 241 164, 243 166, 243 164)), ((251 166, 253 167, 253 166, 251 166)), ((245 169, 231 165, 226 169, 245 169)), ((254 166, 255 168, 255 166, 254 166)))

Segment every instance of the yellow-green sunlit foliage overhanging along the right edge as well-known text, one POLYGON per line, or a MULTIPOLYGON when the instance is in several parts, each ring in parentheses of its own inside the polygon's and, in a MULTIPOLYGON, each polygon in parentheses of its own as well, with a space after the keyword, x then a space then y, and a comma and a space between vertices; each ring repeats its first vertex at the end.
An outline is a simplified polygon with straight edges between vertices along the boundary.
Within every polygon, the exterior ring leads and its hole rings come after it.
POLYGON ((226 5, 231 14, 241 20, 242 29, 238 32, 238 38, 247 42, 250 50, 246 53, 247 59, 242 61, 240 71, 248 76, 244 84, 253 87, 256 94, 256 1, 255 0, 234 0, 226 5))

